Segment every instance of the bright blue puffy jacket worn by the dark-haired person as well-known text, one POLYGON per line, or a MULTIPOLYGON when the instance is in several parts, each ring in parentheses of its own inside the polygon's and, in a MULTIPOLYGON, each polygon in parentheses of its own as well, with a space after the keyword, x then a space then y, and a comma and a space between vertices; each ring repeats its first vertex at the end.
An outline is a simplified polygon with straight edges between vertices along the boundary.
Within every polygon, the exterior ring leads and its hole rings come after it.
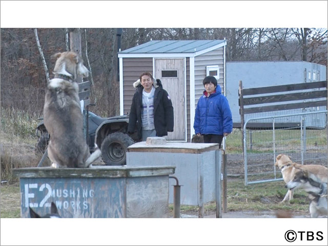
POLYGON ((232 132, 232 115, 228 100, 221 94, 221 87, 209 97, 206 91, 199 98, 194 121, 195 134, 216 134, 232 132))

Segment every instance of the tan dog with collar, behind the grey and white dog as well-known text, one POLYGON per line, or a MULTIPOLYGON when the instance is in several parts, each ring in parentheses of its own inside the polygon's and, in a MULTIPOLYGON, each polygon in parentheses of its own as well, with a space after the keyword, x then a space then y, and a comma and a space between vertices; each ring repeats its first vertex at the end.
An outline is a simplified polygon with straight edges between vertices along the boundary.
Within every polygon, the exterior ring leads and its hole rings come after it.
MULTIPOLYGON (((299 170, 306 170, 311 172, 313 175, 317 176, 322 182, 327 182, 328 180, 328 169, 321 165, 300 165, 291 160, 288 155, 280 154, 276 158, 275 166, 278 166, 282 173, 282 178, 285 183, 293 180, 295 174, 299 170)), ((283 201, 292 200, 295 189, 289 189, 286 193, 283 201)))

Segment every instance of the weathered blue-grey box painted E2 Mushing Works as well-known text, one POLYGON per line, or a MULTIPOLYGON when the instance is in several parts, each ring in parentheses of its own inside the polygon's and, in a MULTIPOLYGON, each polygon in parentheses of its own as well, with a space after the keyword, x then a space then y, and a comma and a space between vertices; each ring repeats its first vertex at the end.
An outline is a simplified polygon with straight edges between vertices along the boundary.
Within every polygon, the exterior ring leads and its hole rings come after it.
POLYGON ((29 207, 63 218, 162 218, 169 216, 169 175, 174 167, 14 169, 20 183, 21 217, 29 207))

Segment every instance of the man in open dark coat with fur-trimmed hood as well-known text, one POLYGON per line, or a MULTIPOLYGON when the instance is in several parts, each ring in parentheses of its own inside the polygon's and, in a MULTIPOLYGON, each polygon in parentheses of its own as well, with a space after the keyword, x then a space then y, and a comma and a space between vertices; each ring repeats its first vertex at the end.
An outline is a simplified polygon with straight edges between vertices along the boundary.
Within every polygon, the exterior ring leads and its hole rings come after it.
POLYGON ((144 72, 133 83, 136 88, 132 99, 128 132, 137 131, 138 139, 146 141, 151 136, 166 136, 173 132, 173 106, 171 98, 162 88, 159 79, 144 72))

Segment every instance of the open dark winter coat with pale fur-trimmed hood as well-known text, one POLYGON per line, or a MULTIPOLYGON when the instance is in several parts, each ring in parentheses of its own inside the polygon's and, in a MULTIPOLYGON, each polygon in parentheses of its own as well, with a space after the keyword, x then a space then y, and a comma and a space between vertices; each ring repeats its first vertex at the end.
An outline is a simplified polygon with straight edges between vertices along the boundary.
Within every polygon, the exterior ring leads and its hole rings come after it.
MULTIPOLYGON (((171 98, 166 90, 163 89, 159 79, 154 81, 154 126, 156 136, 166 136, 168 132, 173 132, 173 106, 171 98)), ((138 132, 138 139, 141 140, 141 111, 142 111, 142 87, 138 79, 133 86, 136 88, 132 99, 132 105, 129 116, 128 132, 138 132)))

